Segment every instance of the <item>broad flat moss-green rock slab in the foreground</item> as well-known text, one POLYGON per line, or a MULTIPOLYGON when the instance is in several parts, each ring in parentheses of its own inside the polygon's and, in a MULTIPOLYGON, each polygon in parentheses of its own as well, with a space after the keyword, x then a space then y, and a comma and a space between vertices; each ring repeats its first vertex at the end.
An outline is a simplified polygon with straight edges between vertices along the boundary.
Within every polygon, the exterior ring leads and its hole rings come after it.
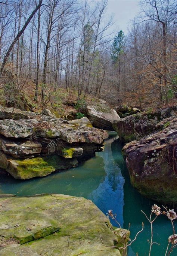
POLYGON ((0 216, 1 256, 121 256, 115 246, 126 245, 130 235, 114 231, 90 200, 66 195, 1 195, 0 216))

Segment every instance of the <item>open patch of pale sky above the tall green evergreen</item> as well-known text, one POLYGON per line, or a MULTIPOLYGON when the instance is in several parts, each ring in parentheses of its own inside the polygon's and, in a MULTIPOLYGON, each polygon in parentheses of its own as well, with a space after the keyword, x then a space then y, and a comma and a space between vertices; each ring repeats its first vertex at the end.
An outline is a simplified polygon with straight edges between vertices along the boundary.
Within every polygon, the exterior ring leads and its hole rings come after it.
POLYGON ((114 14, 114 29, 127 34, 127 26, 140 11, 139 0, 108 0, 107 14, 114 14))

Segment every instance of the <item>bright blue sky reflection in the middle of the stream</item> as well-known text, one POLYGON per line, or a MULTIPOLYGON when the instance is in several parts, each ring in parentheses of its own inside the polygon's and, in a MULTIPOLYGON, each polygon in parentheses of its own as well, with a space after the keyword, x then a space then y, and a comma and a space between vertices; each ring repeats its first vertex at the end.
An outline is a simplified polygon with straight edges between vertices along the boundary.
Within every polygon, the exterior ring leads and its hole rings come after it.
MULTIPOLYGON (((99 153, 99 156, 104 159, 106 178, 88 198, 105 214, 108 213, 108 210, 113 210, 117 214, 118 222, 123 225, 124 178, 118 164, 112 158, 111 143, 115 139, 110 138, 106 142, 105 151, 99 153)), ((116 223, 112 224, 116 225, 116 223)))

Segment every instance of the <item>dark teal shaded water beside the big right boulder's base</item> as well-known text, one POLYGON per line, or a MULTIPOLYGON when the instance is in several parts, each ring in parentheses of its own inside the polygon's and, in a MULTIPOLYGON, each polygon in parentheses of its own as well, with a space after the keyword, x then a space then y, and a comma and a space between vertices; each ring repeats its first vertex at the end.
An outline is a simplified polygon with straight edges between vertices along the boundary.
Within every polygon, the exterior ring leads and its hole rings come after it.
MULTIPOLYGON (((142 222, 145 224, 143 232, 139 234, 137 240, 132 244, 128 255, 135 256, 136 252, 138 252, 139 256, 148 256, 148 239, 150 239, 151 236, 150 225, 141 210, 149 215, 152 205, 157 203, 140 195, 140 193, 131 186, 125 161, 122 159, 123 157, 120 156, 121 148, 122 145, 119 140, 112 142, 111 149, 114 161, 118 163, 119 168, 121 168, 122 176, 125 178, 123 208, 124 228, 128 228, 129 223, 131 224, 131 239, 133 239, 137 232, 142 228, 142 222)), ((153 245, 151 256, 165 255, 168 237, 171 234, 172 228, 170 221, 165 216, 159 216, 153 224, 153 241, 156 241, 160 245, 153 245)), ((171 255, 176 255, 176 251, 171 255)))

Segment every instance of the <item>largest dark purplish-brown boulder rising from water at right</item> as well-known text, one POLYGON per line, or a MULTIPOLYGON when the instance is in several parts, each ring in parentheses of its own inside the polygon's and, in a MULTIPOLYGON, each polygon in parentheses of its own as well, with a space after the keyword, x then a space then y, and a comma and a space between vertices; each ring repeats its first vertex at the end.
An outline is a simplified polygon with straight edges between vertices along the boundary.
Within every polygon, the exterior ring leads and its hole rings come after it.
POLYGON ((155 129, 123 148, 131 184, 164 205, 177 204, 177 117, 161 121, 155 129))

